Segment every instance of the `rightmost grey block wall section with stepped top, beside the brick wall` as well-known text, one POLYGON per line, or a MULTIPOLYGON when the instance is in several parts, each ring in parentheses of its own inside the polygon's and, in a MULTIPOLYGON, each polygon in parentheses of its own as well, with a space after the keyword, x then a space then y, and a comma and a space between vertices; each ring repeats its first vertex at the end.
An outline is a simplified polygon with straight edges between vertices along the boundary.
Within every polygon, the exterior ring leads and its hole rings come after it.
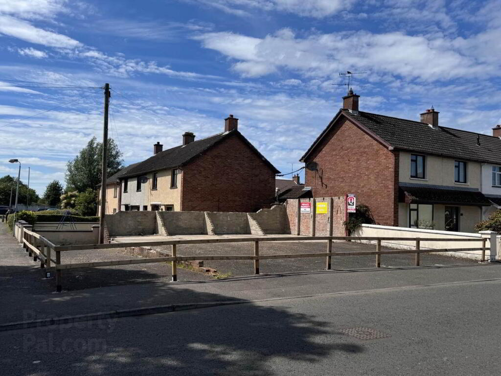
POLYGON ((261 209, 257 213, 247 213, 250 233, 254 235, 287 234, 287 210, 284 205, 274 205, 271 209, 261 209))

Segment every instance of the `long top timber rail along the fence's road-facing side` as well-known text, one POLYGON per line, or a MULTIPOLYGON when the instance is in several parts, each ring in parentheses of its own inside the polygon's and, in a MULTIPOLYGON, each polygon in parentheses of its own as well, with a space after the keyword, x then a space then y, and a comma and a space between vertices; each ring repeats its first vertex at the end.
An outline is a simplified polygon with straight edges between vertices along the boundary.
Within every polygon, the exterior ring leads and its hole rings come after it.
POLYGON ((223 238, 223 239, 192 239, 192 240, 165 240, 152 242, 128 242, 128 243, 111 243, 111 244, 84 244, 77 246, 56 246, 56 250, 63 251, 78 251, 90 249, 107 249, 107 248, 124 248, 124 247, 142 247, 142 246, 172 246, 184 244, 214 244, 214 243, 242 243, 242 242, 304 242, 304 241, 322 241, 322 240, 395 240, 395 241, 412 241, 419 240, 421 242, 481 242, 482 238, 381 238, 374 236, 290 236, 290 237, 269 237, 269 238, 223 238))

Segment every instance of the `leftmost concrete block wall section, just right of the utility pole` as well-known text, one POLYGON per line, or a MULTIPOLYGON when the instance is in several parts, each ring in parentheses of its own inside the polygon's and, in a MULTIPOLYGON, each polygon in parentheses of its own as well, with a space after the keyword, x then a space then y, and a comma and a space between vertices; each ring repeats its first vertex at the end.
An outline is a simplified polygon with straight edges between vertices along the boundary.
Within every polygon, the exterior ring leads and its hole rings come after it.
POLYGON ((106 214, 110 236, 153 235, 158 233, 155 212, 117 212, 106 214))

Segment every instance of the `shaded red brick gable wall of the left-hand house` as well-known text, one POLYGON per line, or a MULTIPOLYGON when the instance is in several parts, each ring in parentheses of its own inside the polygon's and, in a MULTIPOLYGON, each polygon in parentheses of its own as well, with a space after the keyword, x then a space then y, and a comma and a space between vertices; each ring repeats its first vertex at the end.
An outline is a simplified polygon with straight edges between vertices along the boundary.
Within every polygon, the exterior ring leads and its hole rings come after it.
POLYGON ((182 211, 256 212, 274 202, 274 170, 236 134, 182 169, 182 211))

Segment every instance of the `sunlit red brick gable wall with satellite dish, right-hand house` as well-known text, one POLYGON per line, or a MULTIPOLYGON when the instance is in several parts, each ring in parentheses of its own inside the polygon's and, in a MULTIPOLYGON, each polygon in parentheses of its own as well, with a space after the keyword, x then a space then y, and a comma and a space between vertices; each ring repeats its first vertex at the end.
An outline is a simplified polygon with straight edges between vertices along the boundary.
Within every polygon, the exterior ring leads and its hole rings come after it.
POLYGON ((347 119, 326 134, 306 162, 319 163, 319 171, 306 170, 306 185, 313 197, 357 195, 376 223, 398 225, 398 155, 347 119))

